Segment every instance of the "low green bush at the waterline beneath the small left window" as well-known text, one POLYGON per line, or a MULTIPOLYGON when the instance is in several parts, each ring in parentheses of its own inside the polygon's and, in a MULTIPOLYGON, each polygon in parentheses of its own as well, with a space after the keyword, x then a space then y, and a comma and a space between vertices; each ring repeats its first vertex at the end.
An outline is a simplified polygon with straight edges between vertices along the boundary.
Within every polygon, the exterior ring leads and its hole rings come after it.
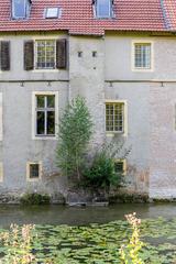
POLYGON ((21 197, 20 202, 22 205, 48 205, 51 204, 51 197, 48 195, 41 194, 25 194, 21 197))

